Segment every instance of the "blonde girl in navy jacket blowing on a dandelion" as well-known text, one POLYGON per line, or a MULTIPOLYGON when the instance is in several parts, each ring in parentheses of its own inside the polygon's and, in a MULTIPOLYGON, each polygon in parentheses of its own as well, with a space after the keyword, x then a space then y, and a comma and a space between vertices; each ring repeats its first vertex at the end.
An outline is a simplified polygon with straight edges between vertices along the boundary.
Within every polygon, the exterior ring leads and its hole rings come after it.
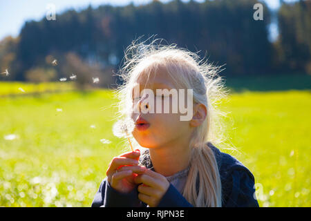
MULTIPOLYGON (((92 206, 258 206, 252 173, 212 144, 219 142, 221 128, 216 102, 226 95, 218 68, 196 53, 156 41, 133 41, 126 49, 117 95, 120 117, 135 122, 131 139, 137 148, 113 158, 92 206), (180 120, 180 111, 142 113, 151 106, 134 89, 146 88, 155 94, 192 89, 192 118, 180 120)), ((155 109, 162 101, 162 111, 164 100, 173 103, 171 95, 154 99, 155 109)))

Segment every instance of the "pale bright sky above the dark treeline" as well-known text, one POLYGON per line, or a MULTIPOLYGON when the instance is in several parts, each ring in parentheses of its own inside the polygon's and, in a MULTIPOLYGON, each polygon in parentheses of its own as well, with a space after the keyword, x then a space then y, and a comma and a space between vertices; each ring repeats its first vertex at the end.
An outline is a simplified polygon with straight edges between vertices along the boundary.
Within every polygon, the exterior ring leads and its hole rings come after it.
MULTIPOLYGON (((25 21, 34 19, 39 21, 46 16, 48 12, 48 4, 53 3, 57 14, 74 8, 75 10, 82 10, 89 4, 96 8, 102 4, 111 4, 112 6, 125 6, 133 2, 136 6, 140 4, 149 3, 152 0, 0 0, 0 40, 3 37, 12 35, 17 37, 25 21)), ((166 3, 170 0, 161 0, 166 3)), ((189 0, 182 0, 187 2, 189 0)), ((196 0, 202 2, 205 0, 196 0)), ((267 6, 272 10, 276 10, 280 6, 279 0, 261 0, 267 3, 267 6)), ((295 1, 295 0, 288 0, 295 1)), ((277 35, 277 27, 270 27, 270 34, 272 39, 277 35)))

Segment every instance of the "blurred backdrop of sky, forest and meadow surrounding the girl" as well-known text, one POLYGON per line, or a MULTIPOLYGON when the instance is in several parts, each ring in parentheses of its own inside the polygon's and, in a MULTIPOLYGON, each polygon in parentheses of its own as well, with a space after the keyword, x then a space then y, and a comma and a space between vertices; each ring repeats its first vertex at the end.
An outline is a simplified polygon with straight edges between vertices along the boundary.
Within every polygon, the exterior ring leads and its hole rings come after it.
POLYGON ((252 171, 259 204, 310 206, 311 1, 1 1, 0 27, 0 206, 91 206, 127 145, 115 73, 151 36, 222 66, 216 146, 252 171))

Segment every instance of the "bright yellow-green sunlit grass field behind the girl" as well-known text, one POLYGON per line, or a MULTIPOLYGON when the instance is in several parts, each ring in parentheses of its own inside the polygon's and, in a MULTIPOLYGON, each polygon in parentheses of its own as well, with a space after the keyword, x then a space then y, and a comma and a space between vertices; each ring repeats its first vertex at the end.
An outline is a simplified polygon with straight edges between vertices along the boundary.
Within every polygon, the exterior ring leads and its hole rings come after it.
MULTIPOLYGON (((124 148, 114 102, 111 90, 0 97, 0 206, 90 206, 124 148)), ((232 93, 220 108, 236 148, 223 151, 252 171, 260 206, 311 206, 311 91, 232 93)))

